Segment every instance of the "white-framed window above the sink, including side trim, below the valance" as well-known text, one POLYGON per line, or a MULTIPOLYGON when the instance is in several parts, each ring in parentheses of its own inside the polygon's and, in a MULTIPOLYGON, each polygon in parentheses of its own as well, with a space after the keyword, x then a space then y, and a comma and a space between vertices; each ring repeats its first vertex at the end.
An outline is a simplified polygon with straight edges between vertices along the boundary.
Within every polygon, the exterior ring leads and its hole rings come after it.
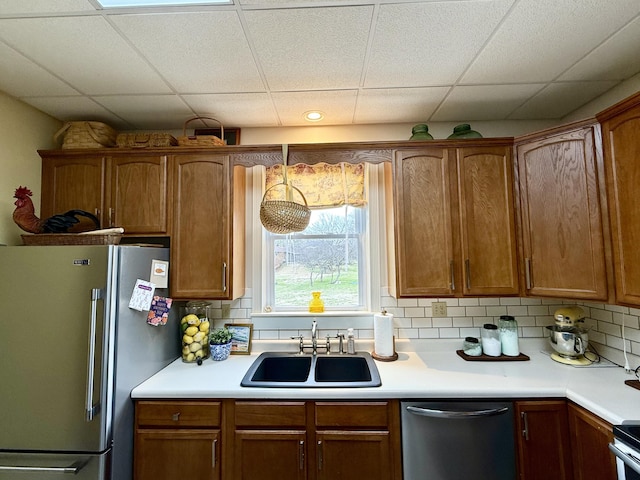
POLYGON ((340 316, 340 312, 365 314, 380 309, 381 291, 386 288, 386 246, 388 235, 393 233, 386 226, 385 215, 385 178, 390 178, 389 174, 389 165, 368 164, 366 204, 312 209, 306 230, 276 235, 265 230, 259 219, 265 168, 250 169, 254 234, 247 254, 252 259, 248 274, 253 279, 253 315, 307 313, 312 291, 322 292, 325 313, 340 316), (335 252, 335 258, 325 259, 321 265, 319 254, 315 261, 312 258, 314 250, 335 252))

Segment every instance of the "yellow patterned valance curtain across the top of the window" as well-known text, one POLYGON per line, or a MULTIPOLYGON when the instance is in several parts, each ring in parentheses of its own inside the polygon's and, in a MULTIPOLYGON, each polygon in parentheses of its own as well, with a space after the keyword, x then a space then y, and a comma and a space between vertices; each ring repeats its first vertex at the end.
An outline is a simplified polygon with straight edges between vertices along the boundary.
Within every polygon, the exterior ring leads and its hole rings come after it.
MULTIPOLYGON (((267 167, 265 190, 283 182, 284 165, 267 167)), ((287 181, 299 189, 309 208, 329 208, 341 205, 362 207, 367 203, 366 168, 364 163, 298 163, 287 166, 287 181)), ((284 200, 285 188, 276 187, 265 195, 266 200, 284 200)), ((295 202, 302 202, 300 195, 293 191, 295 202)))

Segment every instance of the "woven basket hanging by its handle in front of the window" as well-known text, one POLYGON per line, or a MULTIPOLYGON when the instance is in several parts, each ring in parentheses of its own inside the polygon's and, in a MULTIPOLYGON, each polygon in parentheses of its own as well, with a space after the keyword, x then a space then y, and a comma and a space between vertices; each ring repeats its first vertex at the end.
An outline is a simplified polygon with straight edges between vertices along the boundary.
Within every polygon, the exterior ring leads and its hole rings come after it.
POLYGON ((260 203, 260 222, 262 222, 264 228, 271 233, 287 234, 301 232, 307 228, 310 219, 311 210, 309 210, 307 206, 307 199, 304 198, 303 193, 293 185, 277 183, 264 192, 262 202, 260 203), (278 186, 284 186, 285 190, 293 188, 302 197, 304 205, 291 200, 266 200, 269 190, 278 186))

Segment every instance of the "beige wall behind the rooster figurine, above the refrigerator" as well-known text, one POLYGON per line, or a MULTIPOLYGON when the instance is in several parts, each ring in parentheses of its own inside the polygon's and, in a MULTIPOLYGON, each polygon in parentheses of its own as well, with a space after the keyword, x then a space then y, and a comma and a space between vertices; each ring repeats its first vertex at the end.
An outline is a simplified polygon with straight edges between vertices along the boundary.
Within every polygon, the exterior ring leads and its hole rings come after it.
POLYGON ((33 191, 40 205, 38 149, 53 148, 61 122, 0 92, 0 244, 21 245, 24 233, 13 222, 13 194, 19 186, 33 191))

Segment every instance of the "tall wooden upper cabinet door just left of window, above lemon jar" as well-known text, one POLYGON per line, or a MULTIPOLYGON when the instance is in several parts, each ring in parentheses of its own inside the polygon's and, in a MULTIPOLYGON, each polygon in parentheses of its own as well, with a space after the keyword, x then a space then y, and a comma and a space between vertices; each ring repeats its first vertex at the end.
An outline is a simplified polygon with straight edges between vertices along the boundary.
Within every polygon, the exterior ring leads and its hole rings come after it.
POLYGON ((230 188, 226 155, 176 155, 171 296, 228 298, 230 188))

